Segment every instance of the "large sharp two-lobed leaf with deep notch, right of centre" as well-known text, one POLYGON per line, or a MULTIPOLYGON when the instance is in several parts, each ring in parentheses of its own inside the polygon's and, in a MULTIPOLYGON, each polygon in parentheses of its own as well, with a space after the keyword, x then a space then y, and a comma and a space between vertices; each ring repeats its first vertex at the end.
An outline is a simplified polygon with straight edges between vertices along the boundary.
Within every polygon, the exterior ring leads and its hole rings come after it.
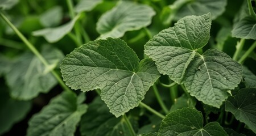
POLYGON ((160 73, 203 103, 219 108, 242 79, 242 66, 226 53, 209 49, 199 54, 209 40, 210 14, 186 16, 174 27, 164 29, 144 46, 147 56, 156 62, 160 73))

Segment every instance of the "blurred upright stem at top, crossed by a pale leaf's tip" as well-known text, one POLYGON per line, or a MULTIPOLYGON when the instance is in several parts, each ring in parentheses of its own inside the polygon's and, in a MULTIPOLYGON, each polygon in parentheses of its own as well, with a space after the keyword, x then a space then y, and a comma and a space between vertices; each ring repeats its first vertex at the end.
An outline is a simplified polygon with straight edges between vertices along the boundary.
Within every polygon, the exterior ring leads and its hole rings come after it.
MULTIPOLYGON (((72 0, 67 0, 67 5, 68 5, 69 14, 70 14, 71 18, 74 19, 75 18, 75 11, 74 11, 74 8, 73 8, 72 0)), ((75 35, 76 35, 77 42, 79 43, 79 46, 81 46, 82 45, 82 39, 81 39, 80 31, 79 31, 79 29, 80 29, 79 20, 76 21, 74 28, 75 28, 75 35)))

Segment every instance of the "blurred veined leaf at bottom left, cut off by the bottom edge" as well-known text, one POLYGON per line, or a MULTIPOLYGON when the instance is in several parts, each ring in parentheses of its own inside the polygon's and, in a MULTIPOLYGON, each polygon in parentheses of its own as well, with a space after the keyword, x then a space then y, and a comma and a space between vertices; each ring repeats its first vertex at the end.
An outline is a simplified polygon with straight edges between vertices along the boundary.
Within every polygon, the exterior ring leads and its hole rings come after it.
POLYGON ((64 91, 28 122, 27 135, 73 135, 87 105, 77 103, 73 92, 64 91))

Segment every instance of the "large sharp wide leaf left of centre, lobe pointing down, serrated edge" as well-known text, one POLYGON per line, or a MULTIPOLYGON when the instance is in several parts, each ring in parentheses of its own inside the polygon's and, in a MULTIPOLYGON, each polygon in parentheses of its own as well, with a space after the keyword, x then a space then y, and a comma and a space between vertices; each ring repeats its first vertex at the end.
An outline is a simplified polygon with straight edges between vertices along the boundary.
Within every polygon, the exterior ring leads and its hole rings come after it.
POLYGON ((159 78, 151 59, 139 59, 121 39, 96 40, 68 54, 60 65, 66 84, 74 90, 102 90, 102 100, 116 117, 137 107, 159 78))

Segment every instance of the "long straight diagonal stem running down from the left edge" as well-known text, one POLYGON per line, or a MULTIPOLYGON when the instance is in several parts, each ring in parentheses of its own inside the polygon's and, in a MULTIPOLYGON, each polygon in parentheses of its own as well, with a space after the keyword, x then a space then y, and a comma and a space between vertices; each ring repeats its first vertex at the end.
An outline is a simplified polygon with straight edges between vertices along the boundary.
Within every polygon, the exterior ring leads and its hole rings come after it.
MULTIPOLYGON (((5 15, 3 15, 2 11, 0 11, 0 16, 2 17, 3 20, 13 29, 13 31, 19 36, 19 38, 24 42, 24 44, 27 45, 27 47, 35 54, 36 57, 44 64, 44 66, 49 67, 48 62, 46 59, 38 52, 38 50, 32 45, 25 36, 22 35, 22 33, 9 21, 9 19, 6 18, 5 15)), ((63 87, 64 90, 71 91, 69 87, 65 85, 63 80, 60 78, 60 76, 54 71, 53 69, 51 70, 51 73, 57 81, 60 83, 60 86, 63 87)))

